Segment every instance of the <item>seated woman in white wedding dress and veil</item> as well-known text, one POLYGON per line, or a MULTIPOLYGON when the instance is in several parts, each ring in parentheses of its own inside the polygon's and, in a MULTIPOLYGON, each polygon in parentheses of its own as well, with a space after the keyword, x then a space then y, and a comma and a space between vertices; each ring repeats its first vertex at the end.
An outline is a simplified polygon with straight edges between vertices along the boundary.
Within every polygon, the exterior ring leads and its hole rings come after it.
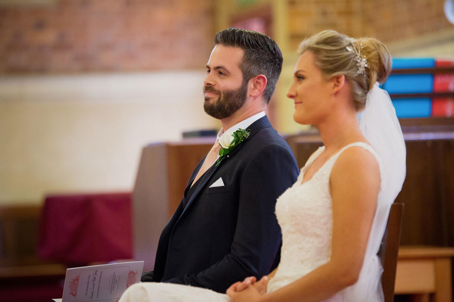
POLYGON ((373 38, 331 30, 304 40, 299 53, 287 96, 294 120, 316 126, 324 146, 277 199, 279 266, 259 281, 232 284, 227 295, 140 283, 120 302, 383 301, 377 252, 405 179, 406 153, 390 98, 378 86, 390 74, 390 53, 373 38))

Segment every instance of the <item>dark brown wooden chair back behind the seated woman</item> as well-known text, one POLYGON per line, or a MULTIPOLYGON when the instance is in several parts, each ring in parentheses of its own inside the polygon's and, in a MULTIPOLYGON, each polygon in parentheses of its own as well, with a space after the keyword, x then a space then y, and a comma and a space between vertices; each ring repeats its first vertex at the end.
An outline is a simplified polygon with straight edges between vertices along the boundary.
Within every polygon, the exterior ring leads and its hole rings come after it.
POLYGON ((388 217, 385 234, 381 240, 381 246, 378 252, 378 256, 383 264, 381 286, 385 295, 385 302, 394 301, 397 254, 399 252, 403 209, 404 204, 402 203, 393 203, 391 205, 390 216, 388 217))

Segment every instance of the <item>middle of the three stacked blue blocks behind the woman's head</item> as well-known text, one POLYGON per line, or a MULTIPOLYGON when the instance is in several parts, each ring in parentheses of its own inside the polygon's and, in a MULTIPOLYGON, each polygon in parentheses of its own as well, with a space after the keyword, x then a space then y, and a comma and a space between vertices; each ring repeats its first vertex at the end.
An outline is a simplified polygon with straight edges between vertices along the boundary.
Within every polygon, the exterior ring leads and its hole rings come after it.
POLYGON ((430 93, 434 83, 431 74, 392 74, 382 88, 392 93, 430 93))

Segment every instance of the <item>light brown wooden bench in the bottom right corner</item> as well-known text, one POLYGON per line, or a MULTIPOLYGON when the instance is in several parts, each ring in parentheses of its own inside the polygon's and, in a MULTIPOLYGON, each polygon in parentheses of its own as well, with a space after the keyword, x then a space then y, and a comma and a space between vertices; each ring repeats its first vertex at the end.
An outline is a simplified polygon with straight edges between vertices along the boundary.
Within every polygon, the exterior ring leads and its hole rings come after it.
POLYGON ((395 294, 411 294, 418 302, 451 302, 451 257, 452 247, 401 246, 395 294))

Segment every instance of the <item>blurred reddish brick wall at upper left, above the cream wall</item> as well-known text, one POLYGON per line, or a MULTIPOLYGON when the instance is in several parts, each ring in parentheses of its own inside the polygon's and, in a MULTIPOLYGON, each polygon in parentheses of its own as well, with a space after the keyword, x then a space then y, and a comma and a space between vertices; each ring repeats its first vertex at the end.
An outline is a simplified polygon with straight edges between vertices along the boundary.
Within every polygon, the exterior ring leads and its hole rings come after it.
POLYGON ((210 0, 58 0, 0 7, 0 74, 204 66, 210 0))

